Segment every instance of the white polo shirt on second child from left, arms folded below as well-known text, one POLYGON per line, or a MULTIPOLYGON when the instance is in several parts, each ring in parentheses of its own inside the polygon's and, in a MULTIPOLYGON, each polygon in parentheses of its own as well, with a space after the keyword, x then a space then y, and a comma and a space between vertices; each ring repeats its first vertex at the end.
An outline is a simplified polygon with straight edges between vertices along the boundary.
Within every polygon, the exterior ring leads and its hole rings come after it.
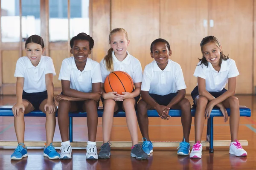
POLYGON ((74 57, 65 58, 58 79, 70 81, 70 88, 85 93, 92 91, 92 83, 102 82, 99 63, 90 58, 83 71, 76 67, 74 57))

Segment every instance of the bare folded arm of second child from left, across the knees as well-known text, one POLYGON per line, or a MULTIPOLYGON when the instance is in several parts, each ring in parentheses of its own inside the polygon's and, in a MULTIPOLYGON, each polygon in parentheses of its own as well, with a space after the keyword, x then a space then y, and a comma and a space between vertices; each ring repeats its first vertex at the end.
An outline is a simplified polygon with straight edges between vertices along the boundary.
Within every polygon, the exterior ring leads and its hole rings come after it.
MULTIPOLYGON (((97 84, 97 83, 93 83, 97 84)), ((99 101, 102 93, 101 92, 90 92, 90 93, 84 93, 81 91, 77 91, 75 89, 70 88, 70 81, 68 80, 61 80, 61 87, 62 87, 62 92, 65 96, 70 96, 70 97, 75 97, 75 98, 80 98, 83 100, 87 99, 93 99, 95 101, 99 101)))

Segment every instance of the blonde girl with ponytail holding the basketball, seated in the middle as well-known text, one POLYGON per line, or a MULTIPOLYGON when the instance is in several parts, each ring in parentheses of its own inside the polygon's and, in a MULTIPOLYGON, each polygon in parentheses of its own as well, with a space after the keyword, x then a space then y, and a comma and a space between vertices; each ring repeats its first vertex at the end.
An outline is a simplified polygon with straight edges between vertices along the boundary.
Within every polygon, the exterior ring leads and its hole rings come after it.
MULTIPOLYGON (((110 158, 110 136, 113 125, 113 115, 123 109, 126 113, 126 122, 131 135, 132 149, 131 156, 136 159, 147 159, 148 155, 138 144, 137 116, 135 107, 140 99, 140 86, 142 82, 142 67, 140 61, 128 53, 127 47, 130 43, 128 33, 123 28, 115 28, 109 34, 111 48, 108 54, 100 62, 102 73, 102 103, 104 106, 102 129, 103 145, 99 152, 99 158, 110 158), (113 71, 124 71, 133 79, 135 90, 132 93, 116 91, 105 93, 104 82, 106 77, 113 71)), ((126 76, 126 75, 125 75, 126 76)))

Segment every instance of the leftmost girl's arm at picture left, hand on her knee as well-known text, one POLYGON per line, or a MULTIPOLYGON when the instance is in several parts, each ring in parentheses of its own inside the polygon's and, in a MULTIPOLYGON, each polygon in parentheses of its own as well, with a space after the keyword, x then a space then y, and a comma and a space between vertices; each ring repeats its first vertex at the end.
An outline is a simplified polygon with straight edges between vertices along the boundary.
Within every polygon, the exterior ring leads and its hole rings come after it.
POLYGON ((19 116, 20 109, 22 109, 22 112, 25 111, 25 106, 23 105, 23 102, 22 102, 23 86, 24 86, 24 77, 17 77, 17 81, 16 81, 17 102, 12 107, 12 113, 15 117, 19 116))

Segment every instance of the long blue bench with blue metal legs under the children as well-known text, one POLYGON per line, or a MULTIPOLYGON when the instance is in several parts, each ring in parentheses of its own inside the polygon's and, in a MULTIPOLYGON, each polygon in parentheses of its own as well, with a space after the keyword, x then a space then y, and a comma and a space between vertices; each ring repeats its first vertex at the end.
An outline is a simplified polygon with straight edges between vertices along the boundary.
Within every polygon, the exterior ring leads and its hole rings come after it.
MULTIPOLYGON (((57 111, 58 112, 58 111, 57 111)), ((57 116, 56 112, 56 116, 57 116)), ((191 109, 192 116, 195 116, 195 108, 191 109)), ((230 109, 227 109, 227 113, 230 116, 230 109)), ((103 109, 98 109, 98 116, 102 117, 103 115, 103 109)), ((169 111, 169 115, 171 117, 181 117, 181 111, 180 110, 174 110, 171 109, 169 111)), ((0 116, 13 116, 12 114, 12 106, 0 106, 0 116)), ((41 111, 32 111, 25 116, 29 117, 45 117, 45 114, 41 111)), ((69 113, 70 118, 70 125, 69 125, 69 138, 70 142, 73 142, 73 117, 86 117, 86 112, 76 112, 76 113, 69 113)), ((207 122, 207 139, 209 139, 209 152, 213 153, 213 118, 214 117, 221 117, 223 116, 221 111, 219 109, 214 108, 212 110, 212 113, 210 115, 210 118, 207 122)), ((251 116, 251 110, 250 108, 247 108, 245 106, 240 106, 240 116, 251 116)), ((120 111, 114 117, 125 117, 125 112, 120 111)), ((159 117, 157 111, 155 110, 149 110, 148 111, 148 117, 159 117)))

